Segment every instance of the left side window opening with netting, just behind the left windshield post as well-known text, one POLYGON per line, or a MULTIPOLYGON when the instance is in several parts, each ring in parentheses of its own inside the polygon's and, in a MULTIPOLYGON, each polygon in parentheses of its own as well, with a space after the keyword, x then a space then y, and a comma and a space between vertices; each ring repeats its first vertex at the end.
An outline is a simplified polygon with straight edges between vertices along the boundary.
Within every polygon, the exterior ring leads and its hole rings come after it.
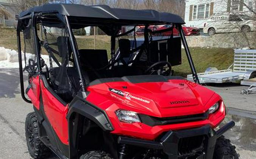
POLYGON ((52 88, 64 101, 70 101, 80 86, 78 79, 73 79, 78 73, 70 62, 72 48, 68 31, 64 26, 43 26, 43 31, 41 58, 49 69, 52 88))

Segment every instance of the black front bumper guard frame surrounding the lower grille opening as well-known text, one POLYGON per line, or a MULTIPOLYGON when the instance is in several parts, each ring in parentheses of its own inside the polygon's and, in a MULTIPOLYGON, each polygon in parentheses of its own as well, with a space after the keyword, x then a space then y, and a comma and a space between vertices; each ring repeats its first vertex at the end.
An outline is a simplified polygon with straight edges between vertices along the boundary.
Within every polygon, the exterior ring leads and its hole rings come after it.
MULTIPOLYGON (((214 153, 214 147, 217 138, 223 133, 234 127, 234 121, 228 122, 225 126, 218 131, 214 131, 210 125, 205 125, 199 128, 180 130, 180 131, 168 131, 158 141, 147 141, 143 139, 134 139, 120 136, 118 138, 119 144, 136 145, 145 148, 154 148, 163 150, 168 155, 169 159, 178 159, 178 144, 180 139, 190 138, 195 136, 204 136, 206 142, 204 144, 205 159, 211 159, 214 153)), ((194 152, 195 153, 195 152, 194 152)))

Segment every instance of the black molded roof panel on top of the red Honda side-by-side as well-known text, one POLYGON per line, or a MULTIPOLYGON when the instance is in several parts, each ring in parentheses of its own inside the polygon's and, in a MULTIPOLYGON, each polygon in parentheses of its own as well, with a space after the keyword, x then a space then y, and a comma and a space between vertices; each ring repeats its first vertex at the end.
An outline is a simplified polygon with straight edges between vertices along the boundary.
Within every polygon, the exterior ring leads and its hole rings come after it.
POLYGON ((162 13, 154 10, 133 10, 110 8, 106 5, 84 6, 74 4, 46 4, 30 8, 20 13, 24 17, 31 12, 58 12, 62 15, 87 18, 104 18, 112 20, 148 21, 156 23, 184 24, 183 19, 175 14, 162 13))

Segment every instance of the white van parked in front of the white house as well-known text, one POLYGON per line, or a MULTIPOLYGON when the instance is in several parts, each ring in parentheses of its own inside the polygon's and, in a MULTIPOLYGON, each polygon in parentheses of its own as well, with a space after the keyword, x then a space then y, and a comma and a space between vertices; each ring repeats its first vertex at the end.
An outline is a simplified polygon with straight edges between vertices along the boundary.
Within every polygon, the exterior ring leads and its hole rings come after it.
POLYGON ((249 20, 246 15, 224 14, 209 17, 204 23, 203 32, 212 36, 217 33, 249 32, 254 30, 253 21, 249 20))

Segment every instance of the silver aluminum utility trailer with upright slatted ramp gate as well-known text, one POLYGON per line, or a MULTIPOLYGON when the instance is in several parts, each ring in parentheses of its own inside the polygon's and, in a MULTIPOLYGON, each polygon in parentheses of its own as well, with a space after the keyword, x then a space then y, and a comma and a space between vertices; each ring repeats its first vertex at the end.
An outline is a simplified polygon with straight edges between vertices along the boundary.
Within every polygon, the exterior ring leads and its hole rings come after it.
MULTIPOLYGON (((256 50, 234 50, 234 63, 226 70, 209 67, 198 73, 200 83, 227 83, 251 79, 256 75, 256 50), (233 69, 231 69, 233 67, 233 69)), ((192 75, 187 79, 193 81, 192 75)))

